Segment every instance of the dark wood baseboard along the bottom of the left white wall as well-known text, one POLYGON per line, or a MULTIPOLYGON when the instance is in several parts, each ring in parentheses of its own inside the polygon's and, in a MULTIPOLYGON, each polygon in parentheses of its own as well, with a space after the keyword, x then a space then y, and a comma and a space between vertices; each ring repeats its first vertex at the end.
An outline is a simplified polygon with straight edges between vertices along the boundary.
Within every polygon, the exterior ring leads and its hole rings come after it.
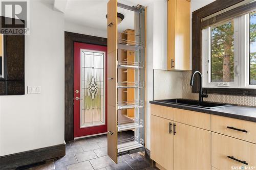
POLYGON ((49 159, 66 155, 66 144, 54 145, 52 147, 20 152, 0 157, 0 169, 15 169, 18 166, 29 165, 49 159))

